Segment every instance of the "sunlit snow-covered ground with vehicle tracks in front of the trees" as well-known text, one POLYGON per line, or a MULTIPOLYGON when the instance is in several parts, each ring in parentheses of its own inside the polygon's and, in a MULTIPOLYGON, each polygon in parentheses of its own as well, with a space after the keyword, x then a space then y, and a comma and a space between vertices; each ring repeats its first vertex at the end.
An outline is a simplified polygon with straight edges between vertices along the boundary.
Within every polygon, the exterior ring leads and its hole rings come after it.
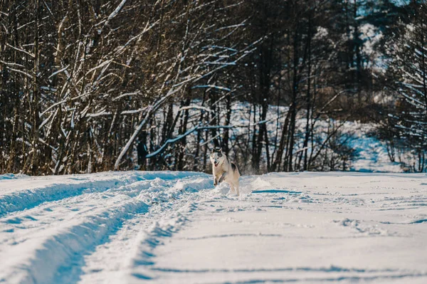
POLYGON ((427 176, 0 176, 0 282, 427 283, 427 176))

